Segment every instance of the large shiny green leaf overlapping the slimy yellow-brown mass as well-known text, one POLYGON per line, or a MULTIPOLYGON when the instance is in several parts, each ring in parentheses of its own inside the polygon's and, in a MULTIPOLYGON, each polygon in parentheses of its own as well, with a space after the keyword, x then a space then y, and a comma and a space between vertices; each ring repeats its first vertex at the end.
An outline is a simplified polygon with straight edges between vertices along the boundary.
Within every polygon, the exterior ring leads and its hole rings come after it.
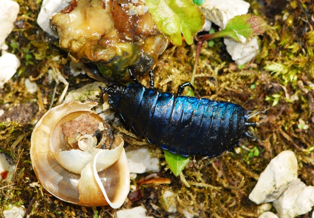
POLYGON ((175 45, 182 45, 181 29, 186 43, 192 44, 193 35, 205 22, 192 0, 146 0, 146 5, 158 30, 175 45))

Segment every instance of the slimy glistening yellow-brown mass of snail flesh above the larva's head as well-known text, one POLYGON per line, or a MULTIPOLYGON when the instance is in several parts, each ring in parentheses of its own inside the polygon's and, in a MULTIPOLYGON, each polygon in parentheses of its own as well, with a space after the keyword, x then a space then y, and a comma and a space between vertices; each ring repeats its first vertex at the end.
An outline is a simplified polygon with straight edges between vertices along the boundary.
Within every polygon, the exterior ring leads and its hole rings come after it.
POLYGON ((124 2, 73 0, 51 19, 59 44, 71 59, 94 63, 104 80, 128 80, 129 67, 136 74, 147 72, 169 43, 157 29, 145 1, 124 2))

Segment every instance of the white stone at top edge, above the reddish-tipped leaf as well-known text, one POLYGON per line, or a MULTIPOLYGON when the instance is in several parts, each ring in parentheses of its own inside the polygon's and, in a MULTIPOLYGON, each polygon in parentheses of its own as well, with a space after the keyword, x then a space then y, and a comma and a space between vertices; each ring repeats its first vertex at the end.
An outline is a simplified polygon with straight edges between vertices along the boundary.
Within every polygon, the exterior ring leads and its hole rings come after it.
POLYGON ((237 15, 246 14, 250 3, 243 0, 206 0, 201 6, 206 19, 217 24, 222 29, 227 22, 237 15))

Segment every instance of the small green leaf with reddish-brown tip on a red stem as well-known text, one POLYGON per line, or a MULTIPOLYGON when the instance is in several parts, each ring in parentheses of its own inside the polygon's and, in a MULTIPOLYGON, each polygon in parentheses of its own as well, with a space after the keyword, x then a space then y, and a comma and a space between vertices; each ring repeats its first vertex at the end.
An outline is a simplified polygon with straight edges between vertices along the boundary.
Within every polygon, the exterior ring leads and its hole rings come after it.
POLYGON ((231 19, 224 30, 212 34, 212 38, 230 37, 236 42, 245 43, 254 36, 262 35, 266 29, 266 22, 258 16, 244 14, 231 19))

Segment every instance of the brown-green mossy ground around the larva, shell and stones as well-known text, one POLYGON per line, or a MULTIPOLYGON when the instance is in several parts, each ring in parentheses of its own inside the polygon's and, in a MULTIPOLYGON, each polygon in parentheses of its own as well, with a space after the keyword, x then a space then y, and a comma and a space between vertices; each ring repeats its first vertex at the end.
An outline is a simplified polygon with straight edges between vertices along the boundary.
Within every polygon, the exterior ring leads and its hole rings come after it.
MULTIPOLYGON (((69 82, 69 89, 92 82, 87 76, 73 77, 67 53, 57 40, 45 34, 36 19, 41 1, 17 0, 20 13, 16 28, 6 40, 9 52, 21 60, 18 73, 0 90, 0 151, 16 164, 13 181, 0 181, 0 209, 7 205, 24 205, 30 217, 111 217, 115 210, 105 207, 81 207, 63 202, 42 186, 30 187, 37 178, 32 170, 29 149, 33 125, 58 100, 64 85, 50 82, 48 69, 57 68, 69 82), (56 58, 57 57, 57 58, 56 58), (24 80, 30 78, 38 92, 26 92, 24 80), (55 98, 52 99, 56 87, 55 98), (22 135, 22 136, 21 136, 22 135), (21 136, 21 137, 19 137, 21 136), (12 147, 12 145, 15 145, 12 147)), ((250 12, 269 24, 261 39, 261 53, 239 69, 226 52, 222 40, 212 47, 203 44, 195 79, 195 95, 242 105, 251 121, 261 126, 251 128, 259 140, 242 139, 235 150, 217 158, 191 158, 183 173, 175 177, 162 151, 152 148, 161 158, 160 177, 171 184, 143 184, 143 197, 126 200, 123 208, 143 204, 148 214, 167 217, 161 203, 165 190, 175 193, 173 202, 182 217, 188 210, 199 217, 258 217, 257 205, 248 199, 259 174, 269 161, 284 150, 296 153, 299 178, 314 185, 314 3, 311 0, 249 0, 250 12), (259 2, 259 3, 258 3, 259 2), (308 129, 304 128, 308 125, 308 129)), ((170 47, 155 68, 156 86, 176 92, 189 81, 196 45, 170 47)), ((149 78, 140 78, 148 84, 149 78)), ((147 144, 125 127, 117 128, 129 149, 147 144)), ((128 149, 127 148, 127 149, 128 149)), ((136 181, 149 174, 138 175, 136 181)), ((300 216, 311 217, 312 212, 300 216)))

